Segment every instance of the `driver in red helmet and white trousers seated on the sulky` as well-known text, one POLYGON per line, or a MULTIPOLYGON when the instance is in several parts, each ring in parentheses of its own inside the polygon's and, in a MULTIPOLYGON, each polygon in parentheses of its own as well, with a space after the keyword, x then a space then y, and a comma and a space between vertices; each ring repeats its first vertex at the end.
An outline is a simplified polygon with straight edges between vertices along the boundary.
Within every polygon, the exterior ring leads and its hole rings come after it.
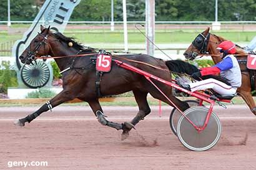
POLYGON ((232 55, 235 54, 236 51, 235 44, 230 40, 225 40, 218 45, 217 49, 220 50, 220 57, 222 57, 222 61, 212 67, 200 68, 200 72, 193 73, 192 77, 198 79, 204 75, 215 75, 220 73, 220 76, 227 79, 227 82, 229 82, 230 85, 220 82, 219 80, 215 80, 214 78, 194 83, 185 83, 178 80, 178 85, 191 92, 212 88, 220 95, 234 95, 237 92, 237 88, 242 84, 242 74, 239 63, 234 55, 232 55))

